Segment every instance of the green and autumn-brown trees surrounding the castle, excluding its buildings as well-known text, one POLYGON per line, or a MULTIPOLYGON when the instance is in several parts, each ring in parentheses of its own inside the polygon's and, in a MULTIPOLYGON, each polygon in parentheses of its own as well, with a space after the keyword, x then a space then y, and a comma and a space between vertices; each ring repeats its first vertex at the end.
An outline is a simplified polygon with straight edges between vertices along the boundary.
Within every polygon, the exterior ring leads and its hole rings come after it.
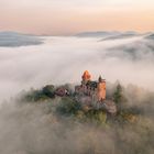
MULTIPOLYGON (((89 106, 81 106, 75 99, 75 92, 73 85, 59 86, 69 91, 69 95, 59 97, 55 95, 56 86, 47 85, 42 89, 33 89, 30 91, 23 91, 19 98, 21 102, 29 103, 47 103, 48 108, 55 108, 55 113, 62 117, 72 117, 79 121, 91 121, 97 124, 124 124, 136 123, 140 116, 144 114, 147 106, 152 106, 153 94, 145 91, 133 85, 129 85, 127 88, 119 82, 110 85, 112 89, 107 89, 107 99, 112 99, 118 108, 114 116, 109 114, 106 110, 97 110, 89 106), (127 91, 128 90, 128 91, 127 91), (141 98, 144 99, 141 99, 141 98), (132 101, 132 102, 130 102, 132 101)), ((52 109, 51 109, 52 111, 52 109)))

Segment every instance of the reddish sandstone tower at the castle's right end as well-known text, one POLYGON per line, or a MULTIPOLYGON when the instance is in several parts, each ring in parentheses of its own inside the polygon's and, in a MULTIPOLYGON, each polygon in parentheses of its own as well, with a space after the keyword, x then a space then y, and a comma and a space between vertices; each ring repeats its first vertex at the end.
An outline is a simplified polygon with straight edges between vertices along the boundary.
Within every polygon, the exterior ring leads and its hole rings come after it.
POLYGON ((98 79, 97 97, 98 101, 102 101, 106 99, 106 80, 102 79, 101 76, 98 79))

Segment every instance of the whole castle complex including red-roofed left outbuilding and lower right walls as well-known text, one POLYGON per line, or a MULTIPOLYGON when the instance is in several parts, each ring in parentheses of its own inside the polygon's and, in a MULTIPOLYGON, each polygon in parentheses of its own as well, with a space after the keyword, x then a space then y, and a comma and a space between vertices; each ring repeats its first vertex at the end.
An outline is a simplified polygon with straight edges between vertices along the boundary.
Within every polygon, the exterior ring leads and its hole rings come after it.
POLYGON ((54 95, 58 97, 72 96, 85 110, 103 109, 110 114, 117 113, 114 101, 106 98, 106 80, 101 76, 96 81, 91 80, 91 75, 88 70, 84 73, 81 84, 75 86, 73 94, 65 86, 62 86, 56 88, 54 95))

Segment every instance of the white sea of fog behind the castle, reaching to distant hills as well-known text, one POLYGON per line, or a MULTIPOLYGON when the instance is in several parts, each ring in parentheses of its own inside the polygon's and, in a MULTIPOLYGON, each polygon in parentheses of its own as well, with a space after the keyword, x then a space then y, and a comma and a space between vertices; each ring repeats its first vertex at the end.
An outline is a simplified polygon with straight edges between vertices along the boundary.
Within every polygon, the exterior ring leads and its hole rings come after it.
POLYGON ((79 82, 88 69, 96 80, 120 80, 154 90, 154 43, 144 36, 101 38, 42 37, 44 44, 0 47, 0 99, 46 84, 79 82))

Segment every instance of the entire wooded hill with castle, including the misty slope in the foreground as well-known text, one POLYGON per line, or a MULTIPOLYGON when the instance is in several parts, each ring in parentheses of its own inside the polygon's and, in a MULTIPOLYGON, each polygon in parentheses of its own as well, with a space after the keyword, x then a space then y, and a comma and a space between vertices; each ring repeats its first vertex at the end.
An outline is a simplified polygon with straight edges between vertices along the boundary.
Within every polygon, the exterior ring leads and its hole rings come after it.
POLYGON ((94 80, 86 72, 80 85, 31 88, 11 101, 15 103, 0 109, 0 121, 1 145, 6 145, 6 138, 12 139, 13 152, 19 144, 19 153, 28 154, 153 152, 154 94, 134 85, 124 87, 101 77, 94 80))

